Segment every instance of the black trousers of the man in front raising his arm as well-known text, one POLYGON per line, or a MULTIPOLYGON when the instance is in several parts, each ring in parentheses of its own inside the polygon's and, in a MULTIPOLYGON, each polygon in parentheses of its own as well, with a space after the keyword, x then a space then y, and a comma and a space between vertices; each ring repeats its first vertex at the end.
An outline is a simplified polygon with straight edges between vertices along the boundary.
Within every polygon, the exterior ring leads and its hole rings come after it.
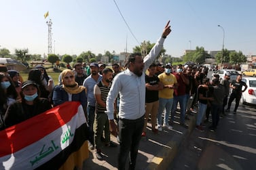
POLYGON ((129 169, 135 169, 143 126, 144 116, 136 120, 119 119, 120 152, 118 154, 118 169, 125 169, 128 154, 129 169))

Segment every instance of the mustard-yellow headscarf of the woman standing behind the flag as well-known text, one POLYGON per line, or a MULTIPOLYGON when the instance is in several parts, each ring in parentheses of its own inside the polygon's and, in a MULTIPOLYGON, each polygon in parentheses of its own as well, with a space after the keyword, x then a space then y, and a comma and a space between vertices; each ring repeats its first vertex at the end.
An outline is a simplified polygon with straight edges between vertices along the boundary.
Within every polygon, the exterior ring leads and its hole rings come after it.
POLYGON ((63 89, 64 89, 65 91, 67 91, 67 93, 77 94, 77 93, 80 93, 81 91, 84 91, 84 90, 86 89, 86 87, 81 86, 81 85, 78 85, 78 83, 75 82, 75 74, 74 74, 74 72, 73 72, 72 70, 70 70, 70 69, 65 69, 65 70, 63 70, 63 71, 61 72, 60 77, 61 77, 63 89), (71 75, 73 75, 73 77, 74 77, 74 79, 73 79, 73 80, 74 80, 73 85, 65 85, 65 84, 64 84, 65 76, 66 76, 68 73, 71 74, 71 75))

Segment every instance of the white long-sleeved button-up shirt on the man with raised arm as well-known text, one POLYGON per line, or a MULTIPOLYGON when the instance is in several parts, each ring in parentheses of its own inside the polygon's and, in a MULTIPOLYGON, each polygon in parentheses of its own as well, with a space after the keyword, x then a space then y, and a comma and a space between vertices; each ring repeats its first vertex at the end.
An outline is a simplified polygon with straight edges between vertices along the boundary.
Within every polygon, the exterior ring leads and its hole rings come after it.
POLYGON ((120 119, 135 120, 145 114, 145 71, 160 54, 163 43, 164 38, 161 37, 143 59, 145 65, 141 77, 135 75, 128 68, 115 76, 106 101, 106 113, 109 120, 113 119, 114 102, 118 93, 120 93, 118 113, 120 119))

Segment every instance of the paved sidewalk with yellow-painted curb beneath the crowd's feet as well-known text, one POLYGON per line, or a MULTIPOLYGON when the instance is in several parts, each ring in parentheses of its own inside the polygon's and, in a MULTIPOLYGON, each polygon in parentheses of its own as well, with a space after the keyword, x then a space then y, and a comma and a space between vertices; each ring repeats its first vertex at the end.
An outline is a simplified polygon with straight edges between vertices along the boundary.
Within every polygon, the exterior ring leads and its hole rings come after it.
MULTIPOLYGON (((191 133, 195 127, 196 114, 189 116, 189 129, 179 125, 179 114, 175 115, 175 125, 172 130, 163 129, 158 134, 151 132, 151 124, 147 124, 147 137, 141 139, 139 153, 136 159, 136 169, 166 169, 172 162, 179 150, 183 140, 191 133)), ((115 137, 111 135, 111 140, 117 143, 115 137)), ((118 144, 118 143, 117 143, 118 144)), ((90 150, 89 158, 84 162, 83 169, 117 169, 117 148, 103 148, 103 161, 98 161, 95 150, 90 150)), ((128 162, 128 160, 127 160, 128 162)), ((128 163, 126 163, 128 168, 128 163)))

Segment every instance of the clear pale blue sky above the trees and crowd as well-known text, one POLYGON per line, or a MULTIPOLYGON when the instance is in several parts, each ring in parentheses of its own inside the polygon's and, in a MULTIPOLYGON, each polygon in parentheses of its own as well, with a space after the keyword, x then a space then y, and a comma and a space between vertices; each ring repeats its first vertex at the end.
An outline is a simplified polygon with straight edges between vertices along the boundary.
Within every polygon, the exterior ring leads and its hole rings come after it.
POLYGON ((223 37, 225 49, 256 55, 255 0, 0 0, 0 7, 0 48, 11 54, 48 54, 51 19, 52 52, 60 55, 132 52, 156 43, 168 20, 164 49, 172 57, 196 47, 219 51, 223 37))

